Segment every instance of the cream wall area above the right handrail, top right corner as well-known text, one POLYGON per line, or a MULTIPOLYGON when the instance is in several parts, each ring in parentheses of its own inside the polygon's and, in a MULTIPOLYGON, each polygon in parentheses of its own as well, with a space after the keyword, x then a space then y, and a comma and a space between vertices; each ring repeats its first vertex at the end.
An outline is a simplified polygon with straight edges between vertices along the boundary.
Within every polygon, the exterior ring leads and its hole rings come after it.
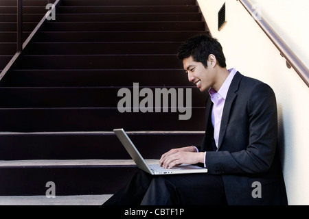
POLYGON ((308 0, 250 0, 288 47, 309 68, 308 0))

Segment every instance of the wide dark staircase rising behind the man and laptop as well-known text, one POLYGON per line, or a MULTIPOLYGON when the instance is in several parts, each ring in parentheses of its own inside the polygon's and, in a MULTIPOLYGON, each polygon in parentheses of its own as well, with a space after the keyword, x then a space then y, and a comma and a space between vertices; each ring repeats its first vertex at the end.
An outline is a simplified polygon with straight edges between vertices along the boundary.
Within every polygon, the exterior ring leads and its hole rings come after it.
POLYGON ((0 81, 0 196, 45 196, 48 181, 58 196, 113 194, 137 170, 115 128, 146 159, 200 144, 205 94, 176 53, 207 33, 195 0, 62 0, 0 81), (191 118, 120 113, 117 92, 133 83, 192 89, 191 118))

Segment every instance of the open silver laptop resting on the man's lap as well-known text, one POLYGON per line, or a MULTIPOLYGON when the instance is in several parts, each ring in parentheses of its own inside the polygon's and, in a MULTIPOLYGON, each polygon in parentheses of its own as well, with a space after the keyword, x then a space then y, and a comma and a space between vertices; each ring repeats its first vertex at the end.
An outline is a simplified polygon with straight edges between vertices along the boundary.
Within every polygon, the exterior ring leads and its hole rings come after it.
POLYGON ((129 155, 134 160, 135 164, 141 170, 144 170, 151 175, 166 175, 166 174, 185 174, 185 173, 205 173, 207 172, 207 168, 202 168, 200 166, 190 165, 190 164, 181 164, 180 166, 176 166, 170 169, 165 169, 159 164, 147 164, 145 159, 141 156, 137 148, 130 140, 126 131, 124 129, 114 129, 113 130, 116 136, 119 138, 120 142, 124 145, 126 151, 128 151, 129 155))

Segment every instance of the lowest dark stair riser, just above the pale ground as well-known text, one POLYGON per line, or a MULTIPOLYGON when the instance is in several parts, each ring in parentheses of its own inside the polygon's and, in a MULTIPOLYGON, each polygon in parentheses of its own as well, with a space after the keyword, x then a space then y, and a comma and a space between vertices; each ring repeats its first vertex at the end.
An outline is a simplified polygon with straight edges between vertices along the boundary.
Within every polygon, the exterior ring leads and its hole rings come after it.
POLYGON ((135 166, 0 168, 0 196, 45 196, 49 181, 56 196, 114 194, 136 171, 135 166))

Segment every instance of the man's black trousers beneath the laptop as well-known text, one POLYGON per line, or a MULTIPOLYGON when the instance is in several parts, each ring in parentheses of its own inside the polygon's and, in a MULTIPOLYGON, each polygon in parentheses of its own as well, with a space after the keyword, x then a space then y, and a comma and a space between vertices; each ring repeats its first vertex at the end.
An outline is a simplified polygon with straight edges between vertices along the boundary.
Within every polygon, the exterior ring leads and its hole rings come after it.
POLYGON ((138 170, 103 205, 227 205, 220 175, 152 176, 138 170))

